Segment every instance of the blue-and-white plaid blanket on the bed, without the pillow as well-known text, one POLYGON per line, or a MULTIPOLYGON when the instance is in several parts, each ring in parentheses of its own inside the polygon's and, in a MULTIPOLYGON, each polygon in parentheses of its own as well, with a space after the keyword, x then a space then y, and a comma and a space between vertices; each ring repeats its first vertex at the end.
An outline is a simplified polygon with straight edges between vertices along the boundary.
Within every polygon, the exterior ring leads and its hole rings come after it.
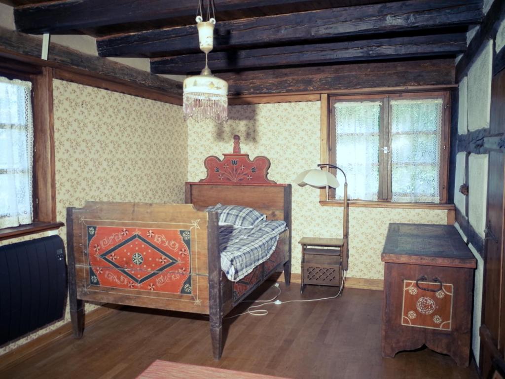
POLYGON ((252 228, 219 227, 221 269, 228 279, 238 281, 274 252, 284 221, 260 221, 252 228))

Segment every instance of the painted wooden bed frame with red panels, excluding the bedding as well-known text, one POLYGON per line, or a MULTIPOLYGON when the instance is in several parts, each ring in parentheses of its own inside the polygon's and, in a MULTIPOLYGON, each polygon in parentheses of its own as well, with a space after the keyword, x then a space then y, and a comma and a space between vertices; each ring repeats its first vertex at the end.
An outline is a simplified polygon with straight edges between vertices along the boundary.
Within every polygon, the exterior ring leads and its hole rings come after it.
POLYGON ((213 356, 222 353, 222 320, 271 274, 291 271, 291 186, 268 179, 266 157, 208 157, 207 178, 187 182, 187 204, 86 202, 67 208, 70 315, 75 338, 84 302, 208 314, 213 356), (242 205, 284 220, 272 256, 243 279, 228 280, 218 251, 218 214, 210 205, 242 205))

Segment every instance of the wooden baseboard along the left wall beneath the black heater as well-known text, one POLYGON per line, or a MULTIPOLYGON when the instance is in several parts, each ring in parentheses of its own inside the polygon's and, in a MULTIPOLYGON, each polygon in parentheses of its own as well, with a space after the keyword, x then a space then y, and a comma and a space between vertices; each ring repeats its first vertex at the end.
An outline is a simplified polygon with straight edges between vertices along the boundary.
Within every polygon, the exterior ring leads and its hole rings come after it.
MULTIPOLYGON (((85 315, 86 326, 89 326, 90 324, 117 312, 119 308, 121 308, 121 305, 107 304, 106 306, 87 312, 85 315)), ((38 351, 42 350, 47 345, 71 334, 72 323, 66 322, 56 329, 48 331, 40 337, 0 355, 0 371, 21 363, 22 361, 34 356, 38 351)))

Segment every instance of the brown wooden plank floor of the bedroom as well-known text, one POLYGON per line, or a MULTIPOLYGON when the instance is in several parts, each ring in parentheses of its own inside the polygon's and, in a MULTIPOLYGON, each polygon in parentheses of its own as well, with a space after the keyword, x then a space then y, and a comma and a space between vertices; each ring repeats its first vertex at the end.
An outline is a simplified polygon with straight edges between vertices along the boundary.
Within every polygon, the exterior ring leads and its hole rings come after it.
MULTIPOLYGON (((260 288, 255 298, 276 290, 260 288)), ((331 287, 280 285, 281 300, 336 294, 331 287)), ((382 292, 345 289, 337 299, 268 305, 267 316, 226 320, 223 358, 211 356, 209 323, 185 313, 127 307, 0 372, 6 378, 133 378, 156 359, 288 378, 477 378, 428 349, 381 356, 382 292)), ((234 310, 243 311, 244 306, 234 310)))

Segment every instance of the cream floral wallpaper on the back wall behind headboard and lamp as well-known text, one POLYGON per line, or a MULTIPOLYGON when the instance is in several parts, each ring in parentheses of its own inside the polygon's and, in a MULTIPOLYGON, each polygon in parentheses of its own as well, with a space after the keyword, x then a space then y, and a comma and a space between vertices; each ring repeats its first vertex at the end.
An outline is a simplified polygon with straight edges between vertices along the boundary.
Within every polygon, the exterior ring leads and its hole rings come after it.
MULTIPOLYGON (((250 158, 270 158, 269 178, 292 185, 292 267, 300 272, 304 236, 341 237, 343 209, 319 204, 316 188, 300 187, 296 175, 316 167, 320 160, 320 103, 282 103, 229 107, 224 126, 188 123, 188 180, 206 176, 203 165, 209 155, 231 153, 233 134, 241 138, 242 153, 250 158)), ((444 224, 447 211, 426 209, 349 209, 349 277, 382 279, 380 254, 388 223, 444 224)))

